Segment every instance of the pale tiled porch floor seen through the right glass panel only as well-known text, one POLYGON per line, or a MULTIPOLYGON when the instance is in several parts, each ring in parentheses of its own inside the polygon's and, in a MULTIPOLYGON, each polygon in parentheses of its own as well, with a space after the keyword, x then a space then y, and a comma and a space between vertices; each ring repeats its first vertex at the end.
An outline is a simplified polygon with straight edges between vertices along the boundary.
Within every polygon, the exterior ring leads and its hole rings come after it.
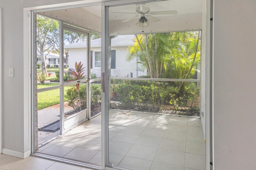
POLYGON ((109 160, 114 166, 133 170, 206 169, 200 119, 112 111, 109 125, 109 160), (116 131, 118 134, 112 135, 116 131))

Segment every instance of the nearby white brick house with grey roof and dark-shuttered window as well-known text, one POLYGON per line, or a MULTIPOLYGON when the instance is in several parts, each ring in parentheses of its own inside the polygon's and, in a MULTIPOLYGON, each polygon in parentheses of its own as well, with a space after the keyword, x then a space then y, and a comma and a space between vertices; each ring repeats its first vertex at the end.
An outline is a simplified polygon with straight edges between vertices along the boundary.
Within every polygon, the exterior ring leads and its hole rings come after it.
MULTIPOLYGON (((129 46, 134 45, 135 35, 118 35, 111 41, 111 76, 118 77, 138 77, 146 75, 146 73, 139 71, 141 64, 137 63, 137 59, 132 61, 125 61, 129 55, 129 46), (125 62, 124 62, 125 61, 125 62)), ((80 43, 73 43, 64 45, 65 49, 69 52, 69 68, 74 68, 75 63, 80 61, 83 66, 87 66, 86 58, 86 41, 80 43)), ((96 77, 101 76, 101 39, 91 40, 90 47, 91 55, 91 73, 96 77)), ((86 69, 87 70, 87 69, 86 69)), ((146 72, 146 71, 145 71, 146 72)))

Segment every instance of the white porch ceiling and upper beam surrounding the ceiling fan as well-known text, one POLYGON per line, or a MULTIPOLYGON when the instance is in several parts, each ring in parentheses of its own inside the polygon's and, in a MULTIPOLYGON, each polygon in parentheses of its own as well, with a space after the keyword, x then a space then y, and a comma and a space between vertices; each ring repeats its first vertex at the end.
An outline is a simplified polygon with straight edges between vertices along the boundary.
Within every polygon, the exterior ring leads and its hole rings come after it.
MULTIPOLYGON (((203 0, 165 0, 146 3, 150 6, 150 12, 176 10, 176 15, 154 15, 160 19, 152 22, 144 28, 144 33, 192 31, 202 29, 203 0)), ((142 28, 135 25, 138 19, 122 22, 136 14, 119 14, 113 12, 135 13, 137 4, 112 6, 109 8, 109 34, 135 34, 142 33, 142 28)), ((57 20, 90 29, 101 31, 101 6, 86 6, 82 8, 69 8, 65 10, 53 10, 41 14, 56 18, 57 20)))

